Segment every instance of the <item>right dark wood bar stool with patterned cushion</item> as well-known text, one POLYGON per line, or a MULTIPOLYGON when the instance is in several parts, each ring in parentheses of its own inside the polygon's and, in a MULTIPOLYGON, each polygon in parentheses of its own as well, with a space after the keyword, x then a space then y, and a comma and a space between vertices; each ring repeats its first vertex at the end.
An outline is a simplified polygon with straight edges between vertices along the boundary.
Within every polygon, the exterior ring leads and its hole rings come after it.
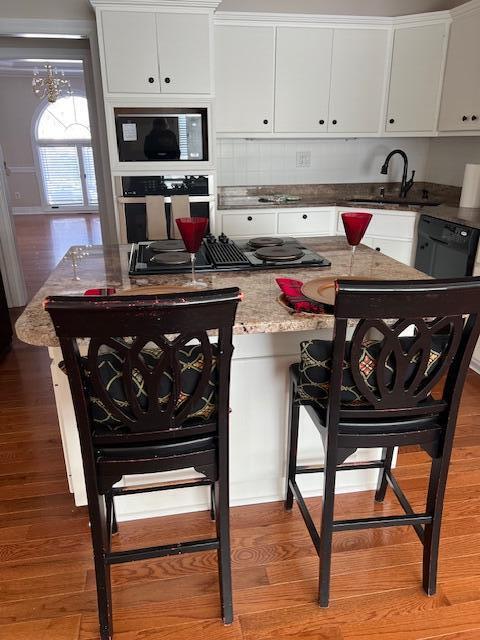
POLYGON ((353 529, 411 525, 424 548, 423 588, 435 593, 445 485, 479 313, 480 278, 339 281, 333 342, 302 343, 301 362, 290 369, 285 507, 297 500, 319 554, 320 606, 329 602, 333 533, 353 529), (347 340, 350 324, 356 326, 347 340), (413 336, 403 337, 409 328, 413 336), (369 339, 374 331, 380 338, 369 339), (322 467, 297 465, 300 405, 322 437, 322 467), (394 447, 404 445, 420 445, 432 458, 421 513, 414 512, 392 473, 394 447), (382 459, 345 463, 357 448, 369 447, 382 448, 382 459), (334 520, 336 472, 372 468, 380 470, 375 500, 383 501, 389 485, 405 514, 334 520), (320 531, 296 482, 298 474, 315 472, 324 474, 320 531))

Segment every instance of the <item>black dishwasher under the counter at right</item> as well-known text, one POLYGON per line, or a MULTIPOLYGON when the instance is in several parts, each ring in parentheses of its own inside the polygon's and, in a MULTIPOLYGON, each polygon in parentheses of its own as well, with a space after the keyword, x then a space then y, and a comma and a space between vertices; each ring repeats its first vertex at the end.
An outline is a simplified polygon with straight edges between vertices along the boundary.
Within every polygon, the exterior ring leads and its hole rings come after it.
POLYGON ((478 236, 478 229, 422 215, 415 268, 434 278, 471 276, 478 236))

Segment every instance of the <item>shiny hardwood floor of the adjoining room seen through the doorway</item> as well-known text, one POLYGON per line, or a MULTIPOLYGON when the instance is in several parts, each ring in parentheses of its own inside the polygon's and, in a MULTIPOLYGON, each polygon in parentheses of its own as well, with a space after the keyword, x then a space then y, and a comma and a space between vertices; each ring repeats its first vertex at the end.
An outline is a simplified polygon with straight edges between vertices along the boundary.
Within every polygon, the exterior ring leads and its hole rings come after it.
POLYGON ((96 214, 14 216, 17 246, 31 298, 74 244, 101 244, 96 214))

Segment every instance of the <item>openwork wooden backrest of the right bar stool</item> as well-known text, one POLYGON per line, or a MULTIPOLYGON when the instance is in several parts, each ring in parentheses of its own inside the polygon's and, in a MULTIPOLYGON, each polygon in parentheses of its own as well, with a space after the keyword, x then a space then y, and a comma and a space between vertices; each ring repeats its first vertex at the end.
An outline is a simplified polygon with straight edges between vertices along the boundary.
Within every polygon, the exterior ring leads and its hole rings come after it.
POLYGON ((347 361, 355 384, 368 402, 362 416, 410 419, 439 414, 445 424, 455 417, 473 349, 480 333, 480 278, 416 281, 338 282, 330 382, 330 421, 340 415, 342 367, 347 361), (346 349, 347 327, 356 326, 346 349), (410 338, 401 334, 409 330, 410 338), (376 384, 362 374, 361 353, 372 332, 377 346, 376 384), (432 351, 435 362, 431 361, 432 351), (445 381, 442 397, 432 390, 445 381))

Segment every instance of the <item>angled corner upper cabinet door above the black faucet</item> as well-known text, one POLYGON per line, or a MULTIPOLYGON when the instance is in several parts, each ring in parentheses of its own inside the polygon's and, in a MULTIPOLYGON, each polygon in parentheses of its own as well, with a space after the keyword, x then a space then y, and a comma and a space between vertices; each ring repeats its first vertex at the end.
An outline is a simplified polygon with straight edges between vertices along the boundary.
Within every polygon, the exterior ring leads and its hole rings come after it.
POLYGON ((436 125, 445 25, 395 31, 387 131, 432 131, 436 125))

